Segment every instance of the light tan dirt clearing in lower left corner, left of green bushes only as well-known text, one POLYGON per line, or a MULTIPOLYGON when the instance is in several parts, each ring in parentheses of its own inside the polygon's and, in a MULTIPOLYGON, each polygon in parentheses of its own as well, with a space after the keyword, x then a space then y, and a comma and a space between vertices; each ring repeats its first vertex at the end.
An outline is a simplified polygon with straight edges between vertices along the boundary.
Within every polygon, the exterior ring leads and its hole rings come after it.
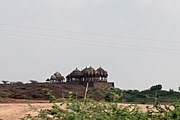
MULTIPOLYGON (((33 103, 32 106, 40 109, 50 109, 53 104, 50 103, 33 103)), ((0 120, 18 120, 26 114, 37 115, 32 109, 30 109, 27 103, 10 103, 0 104, 0 120)))

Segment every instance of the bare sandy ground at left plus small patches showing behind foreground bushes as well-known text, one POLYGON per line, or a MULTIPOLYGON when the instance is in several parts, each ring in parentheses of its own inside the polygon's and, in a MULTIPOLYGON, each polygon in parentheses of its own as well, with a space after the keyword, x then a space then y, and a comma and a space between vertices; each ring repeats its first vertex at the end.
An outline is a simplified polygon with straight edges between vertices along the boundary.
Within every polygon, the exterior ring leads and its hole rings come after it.
MULTIPOLYGON (((58 104, 58 103, 57 103, 58 104)), ((59 103, 60 104, 60 103, 59 103)), ((37 112, 32 109, 35 107, 37 110, 50 109, 53 103, 47 100, 20 100, 20 99, 0 99, 0 120, 18 120, 26 114, 37 115, 37 112)), ((119 106, 127 106, 129 104, 119 103, 119 106)), ((146 107, 152 105, 138 104, 142 111, 146 111, 146 107)), ((65 109, 65 106, 62 106, 65 109)))

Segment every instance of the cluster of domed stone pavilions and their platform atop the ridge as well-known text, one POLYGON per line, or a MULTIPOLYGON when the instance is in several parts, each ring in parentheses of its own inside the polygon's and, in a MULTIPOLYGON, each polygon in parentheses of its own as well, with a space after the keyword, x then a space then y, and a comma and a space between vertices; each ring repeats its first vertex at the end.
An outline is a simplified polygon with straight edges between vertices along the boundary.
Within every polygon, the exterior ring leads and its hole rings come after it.
MULTIPOLYGON (((66 76, 67 83, 87 85, 89 83, 90 87, 94 88, 112 88, 114 87, 113 82, 107 81, 108 72, 102 67, 94 69, 93 67, 86 67, 83 70, 76 68, 70 74, 66 76)), ((64 77, 59 73, 54 73, 50 79, 50 83, 62 83, 64 82, 64 77)))

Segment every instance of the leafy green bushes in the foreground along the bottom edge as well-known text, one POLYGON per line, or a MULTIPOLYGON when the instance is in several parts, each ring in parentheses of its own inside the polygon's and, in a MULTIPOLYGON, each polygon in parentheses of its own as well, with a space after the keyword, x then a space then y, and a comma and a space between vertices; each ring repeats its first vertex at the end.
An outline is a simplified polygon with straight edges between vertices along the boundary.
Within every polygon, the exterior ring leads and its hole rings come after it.
POLYGON ((26 115, 21 120, 180 120, 180 101, 165 107, 156 105, 142 112, 134 105, 67 100, 54 104, 50 110, 40 110, 37 116, 26 115))

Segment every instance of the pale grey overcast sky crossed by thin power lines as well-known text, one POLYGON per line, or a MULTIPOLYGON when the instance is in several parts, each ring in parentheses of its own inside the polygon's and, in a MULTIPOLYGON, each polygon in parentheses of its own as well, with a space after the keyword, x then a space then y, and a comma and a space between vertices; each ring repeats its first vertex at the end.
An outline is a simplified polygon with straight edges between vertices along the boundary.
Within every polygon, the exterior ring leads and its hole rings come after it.
POLYGON ((45 81, 76 67, 120 89, 180 85, 179 0, 0 0, 0 80, 45 81))

